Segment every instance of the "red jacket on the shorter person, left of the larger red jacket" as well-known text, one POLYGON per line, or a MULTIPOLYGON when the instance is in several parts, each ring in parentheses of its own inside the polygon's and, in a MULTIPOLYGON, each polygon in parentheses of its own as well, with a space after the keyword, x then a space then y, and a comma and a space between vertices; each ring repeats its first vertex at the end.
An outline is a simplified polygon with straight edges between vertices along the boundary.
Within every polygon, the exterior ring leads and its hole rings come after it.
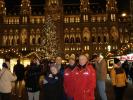
POLYGON ((73 97, 73 91, 74 91, 73 80, 74 80, 73 70, 67 68, 64 72, 64 90, 68 97, 73 97))

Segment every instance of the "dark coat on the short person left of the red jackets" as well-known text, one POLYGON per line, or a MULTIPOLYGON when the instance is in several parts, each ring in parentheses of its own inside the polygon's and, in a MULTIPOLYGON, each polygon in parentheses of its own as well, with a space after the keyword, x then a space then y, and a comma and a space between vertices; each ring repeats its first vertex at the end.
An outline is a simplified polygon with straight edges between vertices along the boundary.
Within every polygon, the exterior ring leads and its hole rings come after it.
POLYGON ((63 82, 60 74, 52 75, 51 73, 46 75, 44 84, 44 100, 62 100, 63 98, 63 82))

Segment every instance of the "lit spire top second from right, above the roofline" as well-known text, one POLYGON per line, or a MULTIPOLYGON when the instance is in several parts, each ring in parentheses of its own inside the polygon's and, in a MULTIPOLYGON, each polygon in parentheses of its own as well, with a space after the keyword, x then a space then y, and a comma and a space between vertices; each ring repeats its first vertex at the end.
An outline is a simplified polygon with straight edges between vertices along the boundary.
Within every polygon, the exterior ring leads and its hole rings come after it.
POLYGON ((80 0, 80 11, 81 12, 90 11, 90 2, 89 2, 89 0, 80 0))

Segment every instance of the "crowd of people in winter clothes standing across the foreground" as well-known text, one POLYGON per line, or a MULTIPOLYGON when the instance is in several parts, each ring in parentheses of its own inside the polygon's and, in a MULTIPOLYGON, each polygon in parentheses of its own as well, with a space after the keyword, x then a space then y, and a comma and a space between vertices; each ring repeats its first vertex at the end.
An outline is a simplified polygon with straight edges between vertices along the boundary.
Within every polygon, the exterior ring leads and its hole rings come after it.
MULTIPOLYGON (((123 66, 126 64, 121 64, 120 60, 115 58, 114 67, 110 71, 115 100, 123 100, 128 83, 128 75, 123 66)), ((18 59, 13 73, 10 72, 9 64, 6 62, 2 67, 0 100, 10 100, 11 95, 21 98, 23 81, 28 100, 39 100, 42 88, 44 100, 95 100, 96 91, 101 100, 107 100, 107 63, 98 54, 94 54, 92 59, 80 55, 78 61, 70 57, 67 65, 62 64, 61 57, 42 61, 34 58, 30 65, 24 67, 18 59), (43 76, 42 80, 40 80, 41 76, 43 76), (14 88, 12 82, 15 83, 14 88)))

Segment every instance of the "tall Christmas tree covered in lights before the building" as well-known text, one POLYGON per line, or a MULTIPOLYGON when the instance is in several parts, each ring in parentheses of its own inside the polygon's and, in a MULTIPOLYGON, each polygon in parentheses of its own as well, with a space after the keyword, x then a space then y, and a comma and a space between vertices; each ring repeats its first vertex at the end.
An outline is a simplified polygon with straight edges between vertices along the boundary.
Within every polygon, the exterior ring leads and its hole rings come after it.
POLYGON ((45 23, 42 27, 42 33, 43 33, 42 48, 45 57, 47 58, 55 57, 58 51, 56 26, 50 15, 48 15, 45 19, 45 23))

